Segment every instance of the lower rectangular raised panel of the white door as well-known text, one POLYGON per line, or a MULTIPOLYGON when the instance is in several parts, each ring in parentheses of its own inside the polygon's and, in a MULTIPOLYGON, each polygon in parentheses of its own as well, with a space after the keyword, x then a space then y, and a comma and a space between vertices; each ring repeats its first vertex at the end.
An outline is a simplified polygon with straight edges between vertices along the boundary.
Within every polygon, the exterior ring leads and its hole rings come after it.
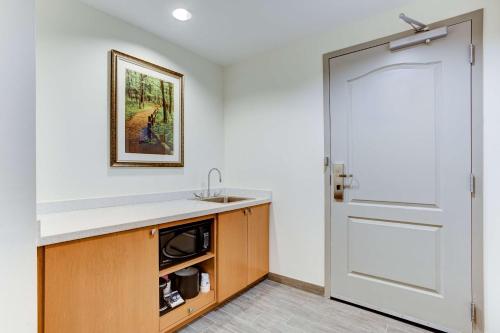
POLYGON ((440 230, 423 224, 350 218, 349 274, 439 293, 440 230))

